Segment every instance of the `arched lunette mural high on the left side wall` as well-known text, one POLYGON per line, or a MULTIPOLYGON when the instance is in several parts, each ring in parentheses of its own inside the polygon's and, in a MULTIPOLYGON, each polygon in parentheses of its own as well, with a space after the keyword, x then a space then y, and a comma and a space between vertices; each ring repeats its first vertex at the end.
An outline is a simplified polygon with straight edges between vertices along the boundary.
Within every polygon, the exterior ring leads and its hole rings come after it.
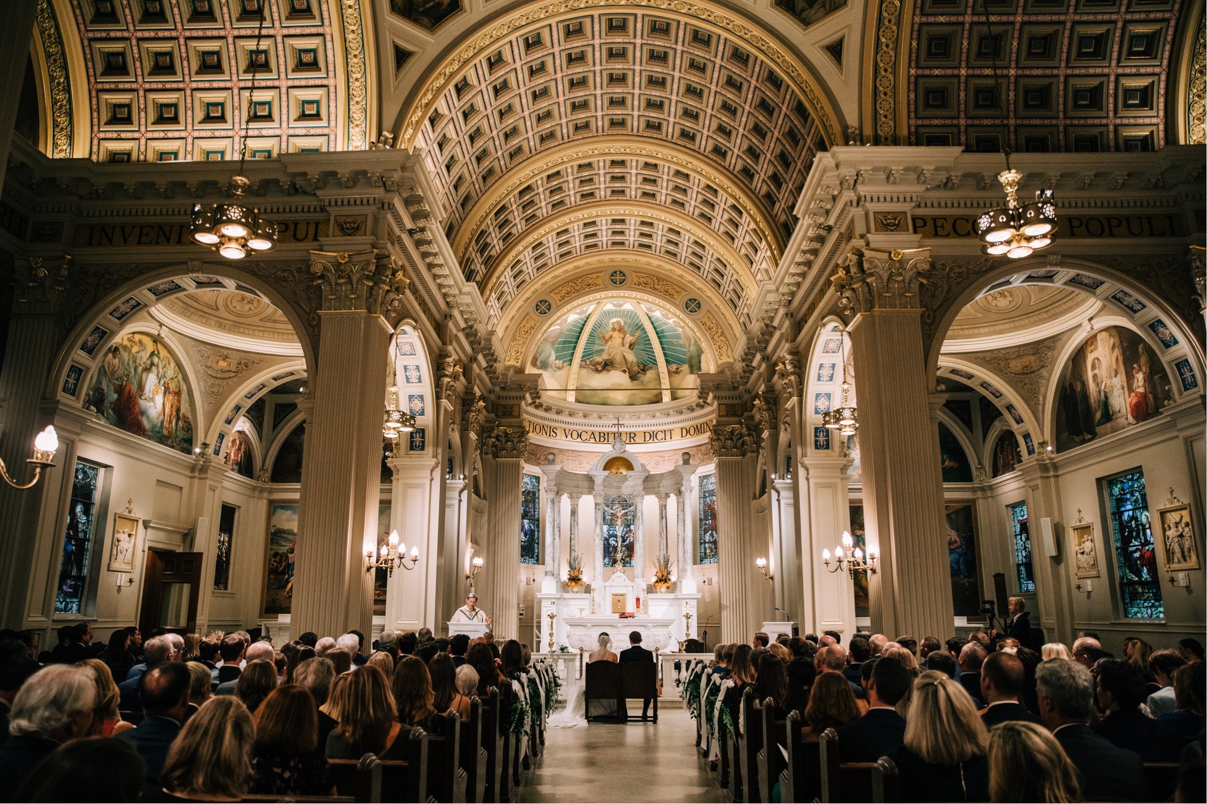
POLYGON ((157 338, 129 333, 105 352, 84 406, 113 427, 193 452, 193 399, 176 357, 157 338))

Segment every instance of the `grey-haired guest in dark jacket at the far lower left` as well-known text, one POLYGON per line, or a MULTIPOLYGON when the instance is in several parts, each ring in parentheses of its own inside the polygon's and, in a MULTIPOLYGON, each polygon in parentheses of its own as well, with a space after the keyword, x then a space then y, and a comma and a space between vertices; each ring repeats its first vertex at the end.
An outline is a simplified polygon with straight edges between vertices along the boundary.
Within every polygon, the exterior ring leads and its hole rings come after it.
POLYGON ((97 706, 97 682, 82 668, 53 664, 34 674, 17 693, 8 739, 0 745, 0 802, 18 793, 34 767, 59 745, 86 736, 97 706))

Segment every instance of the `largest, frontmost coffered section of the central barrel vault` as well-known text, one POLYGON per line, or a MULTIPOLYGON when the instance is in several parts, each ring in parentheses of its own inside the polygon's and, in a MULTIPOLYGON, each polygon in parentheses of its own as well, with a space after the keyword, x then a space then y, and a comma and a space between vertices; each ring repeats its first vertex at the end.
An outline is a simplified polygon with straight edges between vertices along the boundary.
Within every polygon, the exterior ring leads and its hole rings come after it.
POLYGON ((836 139, 828 110, 822 124, 815 116, 821 96, 748 25, 704 6, 643 5, 560 2, 513 14, 420 92, 401 141, 424 149, 451 241, 478 236, 461 225, 505 174, 567 142, 611 136, 699 154, 746 188, 760 207, 751 212, 787 240, 812 158, 836 139))

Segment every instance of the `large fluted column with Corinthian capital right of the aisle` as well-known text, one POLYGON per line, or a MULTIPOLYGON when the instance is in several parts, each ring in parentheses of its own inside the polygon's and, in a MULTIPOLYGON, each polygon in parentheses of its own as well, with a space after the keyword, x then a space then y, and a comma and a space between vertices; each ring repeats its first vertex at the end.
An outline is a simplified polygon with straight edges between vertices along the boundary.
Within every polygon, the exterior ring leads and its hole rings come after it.
POLYGON ((938 429, 931 419, 920 281, 928 250, 856 251, 834 287, 853 313, 859 452, 873 630, 947 634, 952 627, 938 429))

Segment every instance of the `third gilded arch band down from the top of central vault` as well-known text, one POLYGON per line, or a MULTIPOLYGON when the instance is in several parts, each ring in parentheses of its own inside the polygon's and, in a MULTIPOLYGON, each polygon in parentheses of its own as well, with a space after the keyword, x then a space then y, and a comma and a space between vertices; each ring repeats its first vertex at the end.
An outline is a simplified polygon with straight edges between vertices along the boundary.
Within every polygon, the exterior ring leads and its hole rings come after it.
POLYGON ((498 275, 505 269, 509 268, 513 262, 519 259, 520 254, 525 253, 535 243, 544 237, 548 237, 558 229, 562 229, 567 225, 581 223, 583 221, 625 217, 655 221, 658 223, 664 223, 669 227, 675 227, 676 229, 687 231, 689 235, 705 243, 715 254, 722 258, 725 266, 729 268, 729 270, 731 270, 742 283, 742 289, 746 291, 747 294, 753 297, 754 293, 758 292, 758 282, 751 272, 750 265, 747 265, 746 260, 737 253, 737 250, 734 248, 728 240, 719 236, 716 230, 701 225, 694 218, 677 213, 669 207, 661 206, 660 204, 642 204, 641 201, 626 199, 623 204, 616 201, 584 204, 578 209, 572 209, 556 217, 547 218, 540 227, 533 227, 532 229, 525 231, 521 237, 513 240, 507 250, 500 252, 498 257, 495 258, 495 264, 490 274, 483 277, 482 298, 490 298, 490 293, 494 289, 495 281, 498 275))

